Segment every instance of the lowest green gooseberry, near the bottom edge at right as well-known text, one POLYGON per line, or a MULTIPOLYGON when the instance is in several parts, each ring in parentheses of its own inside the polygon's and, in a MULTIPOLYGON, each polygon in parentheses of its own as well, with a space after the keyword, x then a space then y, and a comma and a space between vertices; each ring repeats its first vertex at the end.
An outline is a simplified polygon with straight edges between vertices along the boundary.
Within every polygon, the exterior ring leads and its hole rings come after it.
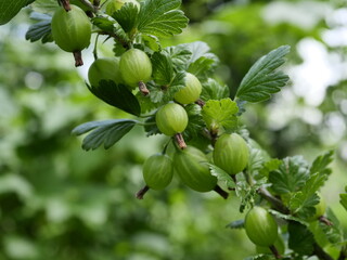
POLYGON ((245 218, 245 230, 248 238, 258 246, 269 247, 278 239, 278 223, 261 207, 250 209, 245 218))

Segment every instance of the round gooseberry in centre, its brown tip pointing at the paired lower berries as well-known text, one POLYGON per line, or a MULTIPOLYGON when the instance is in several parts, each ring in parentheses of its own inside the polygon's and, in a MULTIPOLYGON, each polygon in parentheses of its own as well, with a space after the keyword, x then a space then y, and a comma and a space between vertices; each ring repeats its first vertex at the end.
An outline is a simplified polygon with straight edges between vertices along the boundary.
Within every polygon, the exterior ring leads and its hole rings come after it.
POLYGON ((181 105, 168 103, 158 109, 155 121, 162 133, 171 136, 184 131, 188 126, 188 115, 181 105))

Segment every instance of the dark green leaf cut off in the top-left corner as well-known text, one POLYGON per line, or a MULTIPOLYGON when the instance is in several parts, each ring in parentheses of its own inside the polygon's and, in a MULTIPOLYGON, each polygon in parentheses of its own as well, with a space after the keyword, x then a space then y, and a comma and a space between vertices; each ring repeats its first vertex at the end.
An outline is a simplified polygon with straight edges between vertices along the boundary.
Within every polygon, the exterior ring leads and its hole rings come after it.
POLYGON ((1 0, 0 1, 0 25, 7 24, 12 20, 22 8, 26 6, 33 1, 28 0, 1 0))

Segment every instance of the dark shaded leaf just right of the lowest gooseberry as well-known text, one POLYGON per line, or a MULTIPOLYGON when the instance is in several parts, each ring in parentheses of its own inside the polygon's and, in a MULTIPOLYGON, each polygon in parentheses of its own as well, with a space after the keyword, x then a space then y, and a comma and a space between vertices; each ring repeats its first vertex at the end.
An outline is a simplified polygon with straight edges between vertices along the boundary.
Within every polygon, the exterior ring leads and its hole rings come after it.
POLYGON ((299 255, 311 256, 313 251, 314 237, 307 226, 291 221, 288 223, 288 247, 299 255))

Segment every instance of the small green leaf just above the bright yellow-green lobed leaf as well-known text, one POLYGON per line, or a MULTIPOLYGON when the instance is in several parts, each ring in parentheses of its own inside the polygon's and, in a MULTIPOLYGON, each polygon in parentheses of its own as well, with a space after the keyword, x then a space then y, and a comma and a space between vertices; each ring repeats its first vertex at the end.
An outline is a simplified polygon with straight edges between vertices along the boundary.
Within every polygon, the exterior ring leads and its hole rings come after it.
POLYGON ((215 79, 207 79, 203 82, 201 99, 205 102, 209 100, 221 100, 229 98, 230 92, 227 84, 220 84, 215 79))

